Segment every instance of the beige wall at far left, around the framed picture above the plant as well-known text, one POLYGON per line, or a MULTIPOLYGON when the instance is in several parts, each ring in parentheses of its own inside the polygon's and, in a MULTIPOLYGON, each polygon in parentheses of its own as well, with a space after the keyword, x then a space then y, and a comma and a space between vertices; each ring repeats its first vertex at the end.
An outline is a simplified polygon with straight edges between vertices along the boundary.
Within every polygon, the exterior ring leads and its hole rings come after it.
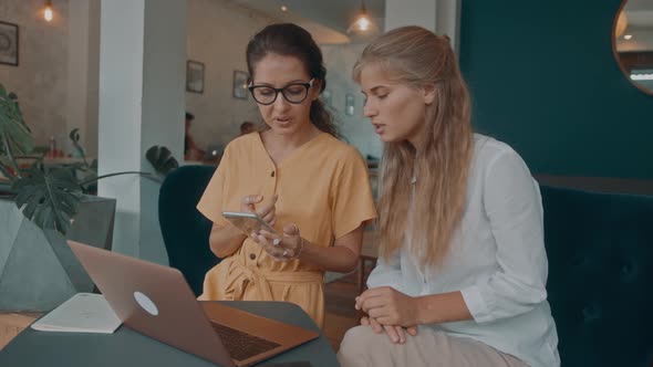
POLYGON ((0 20, 19 27, 19 65, 0 64, 0 83, 14 92, 38 145, 68 140, 68 0, 43 20, 41 0, 1 0, 0 20))

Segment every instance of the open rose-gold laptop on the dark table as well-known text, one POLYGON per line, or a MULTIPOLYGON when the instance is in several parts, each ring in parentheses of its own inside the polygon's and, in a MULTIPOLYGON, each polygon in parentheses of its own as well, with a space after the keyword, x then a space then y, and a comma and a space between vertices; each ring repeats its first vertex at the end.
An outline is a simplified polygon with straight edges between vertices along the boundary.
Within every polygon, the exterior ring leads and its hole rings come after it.
POLYGON ((176 269, 68 243, 126 326, 221 366, 249 366, 319 336, 217 302, 197 302, 176 269))

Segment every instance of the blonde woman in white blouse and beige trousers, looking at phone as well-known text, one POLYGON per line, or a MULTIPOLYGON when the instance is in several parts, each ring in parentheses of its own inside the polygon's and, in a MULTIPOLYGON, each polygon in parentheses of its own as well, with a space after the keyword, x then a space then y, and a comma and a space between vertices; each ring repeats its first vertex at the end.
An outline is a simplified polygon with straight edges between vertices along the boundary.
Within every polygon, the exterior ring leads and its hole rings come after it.
POLYGON ((473 133, 448 39, 390 31, 353 74, 385 144, 381 259, 340 363, 559 366, 538 185, 509 146, 473 133))

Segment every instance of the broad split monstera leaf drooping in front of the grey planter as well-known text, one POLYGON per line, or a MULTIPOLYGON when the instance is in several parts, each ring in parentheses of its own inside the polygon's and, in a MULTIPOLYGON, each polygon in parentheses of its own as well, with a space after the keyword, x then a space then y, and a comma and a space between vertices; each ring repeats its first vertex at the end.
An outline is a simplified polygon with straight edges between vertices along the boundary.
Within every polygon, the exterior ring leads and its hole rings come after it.
POLYGON ((33 166, 22 170, 13 181, 15 206, 23 214, 43 229, 64 233, 77 212, 81 188, 70 168, 55 168, 43 172, 33 166))

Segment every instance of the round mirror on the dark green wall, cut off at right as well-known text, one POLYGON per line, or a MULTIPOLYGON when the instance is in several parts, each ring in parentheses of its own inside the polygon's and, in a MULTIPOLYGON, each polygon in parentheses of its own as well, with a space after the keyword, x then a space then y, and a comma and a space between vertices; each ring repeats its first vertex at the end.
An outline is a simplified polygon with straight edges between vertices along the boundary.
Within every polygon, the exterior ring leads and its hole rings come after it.
POLYGON ((614 18, 612 51, 625 77, 653 95, 653 0, 624 0, 614 18))

